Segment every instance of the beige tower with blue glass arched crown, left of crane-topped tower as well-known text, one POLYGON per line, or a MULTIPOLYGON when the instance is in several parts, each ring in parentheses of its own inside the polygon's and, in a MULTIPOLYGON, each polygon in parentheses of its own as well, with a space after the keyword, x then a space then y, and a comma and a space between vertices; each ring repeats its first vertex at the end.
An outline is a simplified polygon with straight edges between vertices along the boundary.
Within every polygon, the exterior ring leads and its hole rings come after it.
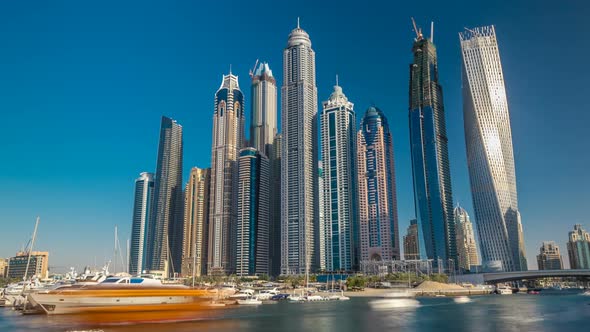
POLYGON ((244 142, 244 95, 238 77, 224 75, 215 93, 211 145, 208 274, 234 271, 237 159, 244 142))

